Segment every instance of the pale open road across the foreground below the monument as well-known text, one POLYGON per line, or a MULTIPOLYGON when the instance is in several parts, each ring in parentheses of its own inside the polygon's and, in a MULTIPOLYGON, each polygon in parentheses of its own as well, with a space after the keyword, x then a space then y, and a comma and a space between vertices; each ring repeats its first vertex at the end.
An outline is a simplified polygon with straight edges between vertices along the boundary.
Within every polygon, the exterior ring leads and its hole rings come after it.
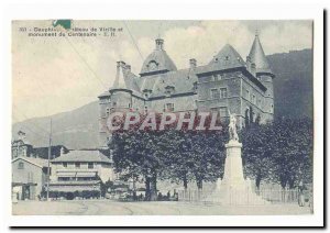
POLYGON ((223 207, 185 202, 116 202, 110 200, 21 201, 14 215, 223 215, 223 214, 310 214, 308 207, 268 204, 223 207))

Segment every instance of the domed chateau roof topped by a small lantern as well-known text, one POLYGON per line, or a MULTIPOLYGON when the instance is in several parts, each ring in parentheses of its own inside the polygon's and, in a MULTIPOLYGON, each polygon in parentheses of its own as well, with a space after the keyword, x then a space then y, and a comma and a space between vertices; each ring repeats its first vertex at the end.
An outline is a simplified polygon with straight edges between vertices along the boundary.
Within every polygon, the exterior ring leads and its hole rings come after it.
POLYGON ((163 48, 164 41, 161 38, 156 40, 156 48, 146 57, 144 60, 140 75, 146 75, 148 73, 155 71, 173 71, 177 70, 174 62, 167 55, 167 53, 163 48), (151 69, 150 64, 156 63, 157 67, 155 69, 151 69))

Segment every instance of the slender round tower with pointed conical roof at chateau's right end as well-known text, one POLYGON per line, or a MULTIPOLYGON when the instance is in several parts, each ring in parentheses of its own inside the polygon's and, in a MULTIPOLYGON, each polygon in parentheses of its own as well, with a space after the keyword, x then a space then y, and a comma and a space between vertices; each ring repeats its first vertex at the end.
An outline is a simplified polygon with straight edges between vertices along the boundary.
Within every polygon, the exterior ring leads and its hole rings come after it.
POLYGON ((272 121, 274 119, 273 78, 275 78, 275 75, 271 69, 257 33, 255 34, 246 62, 250 71, 254 73, 255 77, 267 88, 264 97, 263 111, 265 112, 266 119, 272 121))

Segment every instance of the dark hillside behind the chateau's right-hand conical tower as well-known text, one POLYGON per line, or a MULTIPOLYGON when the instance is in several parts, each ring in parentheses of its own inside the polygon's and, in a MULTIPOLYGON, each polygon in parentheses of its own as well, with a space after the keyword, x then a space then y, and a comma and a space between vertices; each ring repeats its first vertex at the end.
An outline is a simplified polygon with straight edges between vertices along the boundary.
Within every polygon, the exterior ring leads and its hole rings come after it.
POLYGON ((312 118, 311 49, 270 55, 268 60, 276 75, 275 116, 312 118))

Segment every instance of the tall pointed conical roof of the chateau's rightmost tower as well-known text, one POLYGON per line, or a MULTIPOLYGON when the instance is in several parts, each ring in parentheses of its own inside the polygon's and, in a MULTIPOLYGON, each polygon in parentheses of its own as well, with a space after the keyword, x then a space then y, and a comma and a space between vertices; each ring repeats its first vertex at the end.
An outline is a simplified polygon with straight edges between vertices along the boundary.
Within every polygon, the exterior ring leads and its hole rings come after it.
POLYGON ((267 57, 264 53, 264 49, 261 45, 258 34, 255 34, 255 38, 253 42, 253 45, 251 47, 249 57, 251 59, 251 63, 255 64, 256 73, 272 73, 271 66, 268 64, 267 57))

